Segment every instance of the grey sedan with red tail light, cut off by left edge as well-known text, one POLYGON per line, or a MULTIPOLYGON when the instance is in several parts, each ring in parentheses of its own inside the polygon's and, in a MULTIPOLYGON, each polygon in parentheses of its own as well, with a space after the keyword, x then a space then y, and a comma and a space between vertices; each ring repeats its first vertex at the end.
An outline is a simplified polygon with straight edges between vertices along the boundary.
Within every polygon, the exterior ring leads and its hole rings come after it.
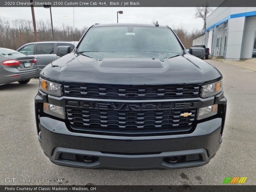
POLYGON ((36 59, 12 49, 0 48, 0 85, 18 81, 26 84, 38 77, 36 59))

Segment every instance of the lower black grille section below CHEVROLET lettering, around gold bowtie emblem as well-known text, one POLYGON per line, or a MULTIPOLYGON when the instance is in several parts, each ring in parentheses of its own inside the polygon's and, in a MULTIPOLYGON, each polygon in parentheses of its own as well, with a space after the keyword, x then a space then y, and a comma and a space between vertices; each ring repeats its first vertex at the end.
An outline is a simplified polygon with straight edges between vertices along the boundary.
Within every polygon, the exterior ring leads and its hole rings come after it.
POLYGON ((159 135, 188 132, 196 109, 113 111, 67 107, 68 120, 74 131, 94 134, 159 135), (191 116, 180 116, 192 113, 191 116))

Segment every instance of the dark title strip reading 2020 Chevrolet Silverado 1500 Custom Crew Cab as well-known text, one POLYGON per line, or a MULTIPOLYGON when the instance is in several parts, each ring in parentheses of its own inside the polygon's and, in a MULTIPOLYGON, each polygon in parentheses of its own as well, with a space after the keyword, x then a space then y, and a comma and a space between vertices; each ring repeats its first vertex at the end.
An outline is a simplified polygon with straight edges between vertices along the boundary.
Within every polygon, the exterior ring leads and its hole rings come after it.
MULTIPOLYGON (((34 7, 256 7, 256 0, 33 0, 34 7)), ((0 7, 30 7, 30 0, 1 0, 0 7)))

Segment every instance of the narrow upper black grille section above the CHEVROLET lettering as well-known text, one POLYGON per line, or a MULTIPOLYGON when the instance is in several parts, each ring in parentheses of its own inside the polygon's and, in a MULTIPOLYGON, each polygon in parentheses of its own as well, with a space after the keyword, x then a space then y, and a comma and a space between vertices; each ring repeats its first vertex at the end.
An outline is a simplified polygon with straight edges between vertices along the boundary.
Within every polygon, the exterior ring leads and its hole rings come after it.
POLYGON ((149 100, 198 97, 199 85, 88 85, 65 84, 64 95, 82 98, 149 100))

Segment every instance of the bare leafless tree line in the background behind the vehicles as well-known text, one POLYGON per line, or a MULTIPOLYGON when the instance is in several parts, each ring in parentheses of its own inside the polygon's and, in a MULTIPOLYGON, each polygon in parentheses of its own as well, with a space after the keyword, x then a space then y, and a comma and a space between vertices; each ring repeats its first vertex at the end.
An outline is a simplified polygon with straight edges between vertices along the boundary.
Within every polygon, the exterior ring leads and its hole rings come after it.
MULTIPOLYGON (((49 20, 38 20, 36 22, 38 41, 52 40, 52 27, 49 20)), ((62 24, 61 27, 54 27, 55 41, 79 41, 81 36, 87 30, 87 27, 82 29, 73 28, 73 26, 62 24), (74 33, 75 32, 75 33, 74 33)), ((189 32, 186 28, 173 27, 173 30, 180 38, 186 49, 192 46, 192 40, 202 33, 202 30, 189 32)), ((34 42, 33 22, 26 19, 8 20, 0 17, 0 47, 16 50, 20 46, 34 42)))

